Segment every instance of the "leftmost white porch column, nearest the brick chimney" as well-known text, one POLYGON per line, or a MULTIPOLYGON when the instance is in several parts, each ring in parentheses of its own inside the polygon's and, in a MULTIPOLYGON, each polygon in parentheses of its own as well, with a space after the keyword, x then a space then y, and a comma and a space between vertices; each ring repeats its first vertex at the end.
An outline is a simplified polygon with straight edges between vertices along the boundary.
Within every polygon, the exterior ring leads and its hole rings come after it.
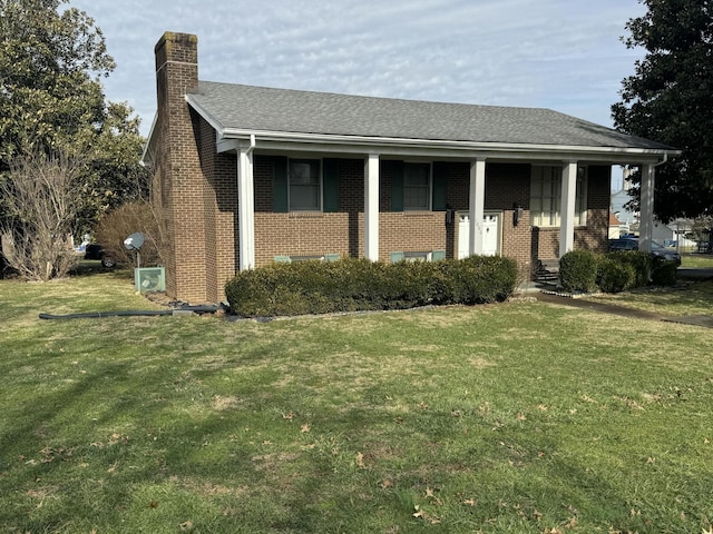
POLYGON ((252 147, 237 149, 237 218, 240 270, 255 267, 255 195, 252 147))

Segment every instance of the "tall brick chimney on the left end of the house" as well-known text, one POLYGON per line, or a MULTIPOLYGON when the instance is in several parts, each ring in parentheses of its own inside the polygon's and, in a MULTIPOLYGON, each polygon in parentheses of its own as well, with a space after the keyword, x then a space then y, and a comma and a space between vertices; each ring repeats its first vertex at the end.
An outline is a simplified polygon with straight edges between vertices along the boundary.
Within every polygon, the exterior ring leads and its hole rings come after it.
POLYGON ((167 31, 156 43, 157 136, 155 201, 166 222, 166 293, 204 303, 206 295, 204 177, 185 95, 198 85, 198 38, 167 31))

